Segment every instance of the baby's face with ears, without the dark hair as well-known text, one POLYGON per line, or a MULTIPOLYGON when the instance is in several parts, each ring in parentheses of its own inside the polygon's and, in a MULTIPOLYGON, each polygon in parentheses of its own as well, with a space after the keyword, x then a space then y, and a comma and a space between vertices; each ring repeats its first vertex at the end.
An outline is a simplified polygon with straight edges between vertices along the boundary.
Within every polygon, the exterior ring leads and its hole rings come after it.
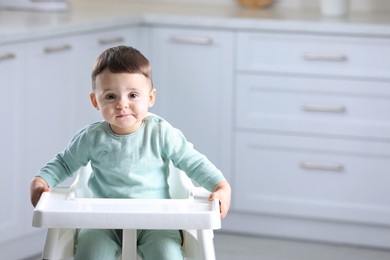
POLYGON ((155 96, 156 90, 144 75, 104 70, 96 77, 91 101, 112 131, 125 135, 139 129, 155 96))

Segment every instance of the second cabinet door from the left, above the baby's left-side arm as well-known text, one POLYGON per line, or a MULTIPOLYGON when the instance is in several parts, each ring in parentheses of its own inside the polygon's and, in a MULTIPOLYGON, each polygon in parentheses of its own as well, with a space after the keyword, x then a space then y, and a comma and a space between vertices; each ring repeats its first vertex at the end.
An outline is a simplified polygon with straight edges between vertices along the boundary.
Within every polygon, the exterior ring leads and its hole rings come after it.
POLYGON ((24 167, 30 178, 62 151, 72 136, 75 40, 46 39, 28 44, 27 80, 23 85, 24 167))

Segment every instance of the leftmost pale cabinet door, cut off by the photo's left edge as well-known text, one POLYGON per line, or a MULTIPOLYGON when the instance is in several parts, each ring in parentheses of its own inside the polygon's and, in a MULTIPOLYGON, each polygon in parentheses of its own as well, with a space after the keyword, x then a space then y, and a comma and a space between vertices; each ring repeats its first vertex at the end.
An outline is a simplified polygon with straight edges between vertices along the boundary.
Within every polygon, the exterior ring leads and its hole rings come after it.
POLYGON ((22 182, 18 149, 19 126, 22 125, 22 118, 18 118, 22 105, 19 85, 25 72, 23 58, 22 45, 0 47, 0 79, 5 97, 0 102, 0 117, 3 119, 0 130, 1 178, 5 182, 0 189, 0 243, 21 235, 21 208, 28 203, 23 192, 28 186, 22 182))

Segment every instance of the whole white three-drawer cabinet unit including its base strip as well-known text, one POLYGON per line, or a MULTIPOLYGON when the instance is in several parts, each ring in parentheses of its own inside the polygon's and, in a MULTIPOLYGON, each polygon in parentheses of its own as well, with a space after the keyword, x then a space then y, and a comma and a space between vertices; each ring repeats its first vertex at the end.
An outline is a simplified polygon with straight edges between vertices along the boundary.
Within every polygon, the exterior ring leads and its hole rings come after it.
POLYGON ((390 41, 242 32, 237 42, 234 198, 247 224, 232 226, 389 247, 390 41))

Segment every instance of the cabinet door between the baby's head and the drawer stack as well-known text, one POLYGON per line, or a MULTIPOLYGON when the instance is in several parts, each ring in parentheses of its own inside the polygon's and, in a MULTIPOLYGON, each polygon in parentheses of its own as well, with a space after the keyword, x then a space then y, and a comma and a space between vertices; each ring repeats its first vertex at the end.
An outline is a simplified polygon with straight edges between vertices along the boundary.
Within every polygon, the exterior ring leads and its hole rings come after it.
POLYGON ((153 111, 229 177, 233 33, 153 28, 153 111))

